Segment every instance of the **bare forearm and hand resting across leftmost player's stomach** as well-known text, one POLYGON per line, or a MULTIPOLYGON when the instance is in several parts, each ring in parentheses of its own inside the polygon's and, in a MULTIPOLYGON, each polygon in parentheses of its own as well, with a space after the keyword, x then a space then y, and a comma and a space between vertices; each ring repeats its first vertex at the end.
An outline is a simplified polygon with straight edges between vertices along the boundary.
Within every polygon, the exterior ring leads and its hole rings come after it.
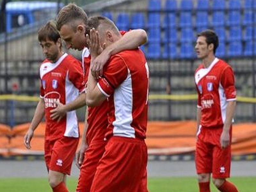
POLYGON ((68 111, 73 111, 86 105, 85 99, 86 99, 86 93, 83 92, 79 94, 79 96, 75 100, 73 100, 72 102, 66 105, 63 105, 59 101, 56 101, 57 107, 50 111, 51 112, 50 117, 53 120, 57 120, 57 122, 59 122, 60 119, 62 119, 62 117, 64 117, 68 111))

